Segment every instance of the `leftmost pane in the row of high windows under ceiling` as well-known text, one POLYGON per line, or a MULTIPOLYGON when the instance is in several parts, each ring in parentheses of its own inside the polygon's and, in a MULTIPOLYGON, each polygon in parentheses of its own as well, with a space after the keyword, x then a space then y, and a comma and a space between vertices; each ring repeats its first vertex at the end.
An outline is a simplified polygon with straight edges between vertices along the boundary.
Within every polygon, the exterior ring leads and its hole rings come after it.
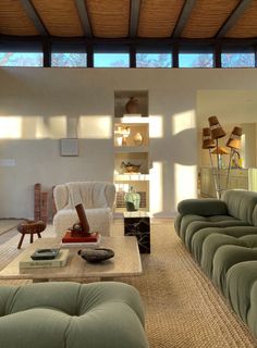
POLYGON ((42 53, 1 52, 0 66, 42 66, 42 53))

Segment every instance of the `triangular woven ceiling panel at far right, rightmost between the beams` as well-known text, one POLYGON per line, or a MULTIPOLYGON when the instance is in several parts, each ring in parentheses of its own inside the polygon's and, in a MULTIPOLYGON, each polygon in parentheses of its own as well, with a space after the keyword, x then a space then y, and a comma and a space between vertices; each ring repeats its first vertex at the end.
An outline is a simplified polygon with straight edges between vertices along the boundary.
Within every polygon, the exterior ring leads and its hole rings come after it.
POLYGON ((257 37, 257 1, 250 5, 237 20, 235 25, 227 33, 225 37, 250 38, 257 37))

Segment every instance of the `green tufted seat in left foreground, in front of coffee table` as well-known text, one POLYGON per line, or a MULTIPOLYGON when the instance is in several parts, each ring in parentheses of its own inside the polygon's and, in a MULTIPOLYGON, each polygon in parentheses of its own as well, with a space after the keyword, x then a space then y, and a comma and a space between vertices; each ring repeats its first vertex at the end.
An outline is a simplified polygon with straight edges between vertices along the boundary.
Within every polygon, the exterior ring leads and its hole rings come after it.
POLYGON ((0 347, 148 347, 139 295, 115 282, 0 286, 0 347))

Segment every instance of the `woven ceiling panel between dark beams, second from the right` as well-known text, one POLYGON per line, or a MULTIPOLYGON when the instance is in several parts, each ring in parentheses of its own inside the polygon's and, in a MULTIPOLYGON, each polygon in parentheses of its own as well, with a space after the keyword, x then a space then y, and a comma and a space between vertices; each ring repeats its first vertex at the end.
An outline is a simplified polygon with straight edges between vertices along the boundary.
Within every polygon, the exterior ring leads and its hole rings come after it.
POLYGON ((219 32, 238 0, 197 0, 181 36, 184 38, 211 38, 219 32))

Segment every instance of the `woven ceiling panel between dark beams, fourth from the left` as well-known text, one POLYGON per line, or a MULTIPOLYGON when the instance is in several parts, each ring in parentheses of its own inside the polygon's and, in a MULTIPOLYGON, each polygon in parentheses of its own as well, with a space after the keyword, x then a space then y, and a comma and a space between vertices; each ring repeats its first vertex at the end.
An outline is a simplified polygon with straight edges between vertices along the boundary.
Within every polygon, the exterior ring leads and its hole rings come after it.
POLYGON ((140 4, 138 36, 170 37, 184 0, 144 0, 140 4))

